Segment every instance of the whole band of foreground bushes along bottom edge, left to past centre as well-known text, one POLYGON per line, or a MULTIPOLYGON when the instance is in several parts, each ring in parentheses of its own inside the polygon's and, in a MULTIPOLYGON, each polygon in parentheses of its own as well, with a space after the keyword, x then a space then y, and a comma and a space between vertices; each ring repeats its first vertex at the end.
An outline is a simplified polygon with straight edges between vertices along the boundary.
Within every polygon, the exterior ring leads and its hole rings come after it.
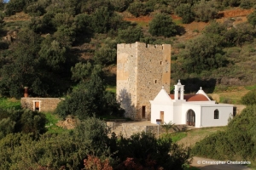
POLYGON ((91 157, 107 160, 114 169, 182 169, 189 162, 190 150, 170 139, 156 139, 152 133, 137 133, 130 139, 109 135, 106 123, 96 117, 87 118, 73 130, 44 133, 38 138, 32 133, 9 133, 0 139, 0 168, 82 169, 96 165, 91 157))

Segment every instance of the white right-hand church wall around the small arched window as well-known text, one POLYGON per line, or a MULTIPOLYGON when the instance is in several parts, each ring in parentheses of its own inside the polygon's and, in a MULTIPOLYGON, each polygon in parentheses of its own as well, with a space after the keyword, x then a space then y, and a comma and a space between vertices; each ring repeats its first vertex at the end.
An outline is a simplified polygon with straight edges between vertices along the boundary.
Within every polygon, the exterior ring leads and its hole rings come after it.
POLYGON ((202 127, 221 127, 228 124, 233 105, 202 106, 202 127), (218 109, 218 119, 214 119, 214 111, 218 109))

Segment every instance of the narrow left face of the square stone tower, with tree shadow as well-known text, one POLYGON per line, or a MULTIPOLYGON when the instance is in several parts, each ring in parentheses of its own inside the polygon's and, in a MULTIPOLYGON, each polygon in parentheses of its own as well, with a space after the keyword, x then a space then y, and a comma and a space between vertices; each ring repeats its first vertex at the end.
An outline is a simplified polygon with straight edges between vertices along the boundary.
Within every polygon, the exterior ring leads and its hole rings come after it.
POLYGON ((137 103, 137 48, 136 44, 117 45, 117 99, 126 117, 135 117, 137 103))

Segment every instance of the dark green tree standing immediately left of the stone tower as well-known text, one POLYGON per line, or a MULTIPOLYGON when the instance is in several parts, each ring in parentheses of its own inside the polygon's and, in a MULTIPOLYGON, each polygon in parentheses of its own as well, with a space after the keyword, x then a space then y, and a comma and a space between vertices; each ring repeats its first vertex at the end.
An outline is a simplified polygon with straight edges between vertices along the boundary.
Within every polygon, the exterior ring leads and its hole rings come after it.
MULTIPOLYGON (((76 77, 83 76, 79 76, 78 73, 76 77)), ((117 104, 115 96, 109 96, 105 89, 102 81, 102 69, 99 65, 95 65, 91 70, 90 77, 84 78, 84 82, 80 82, 78 87, 74 88, 73 92, 61 101, 55 112, 62 118, 72 115, 78 116, 81 120, 94 114, 96 116, 110 114, 122 116, 124 111, 117 104)))

